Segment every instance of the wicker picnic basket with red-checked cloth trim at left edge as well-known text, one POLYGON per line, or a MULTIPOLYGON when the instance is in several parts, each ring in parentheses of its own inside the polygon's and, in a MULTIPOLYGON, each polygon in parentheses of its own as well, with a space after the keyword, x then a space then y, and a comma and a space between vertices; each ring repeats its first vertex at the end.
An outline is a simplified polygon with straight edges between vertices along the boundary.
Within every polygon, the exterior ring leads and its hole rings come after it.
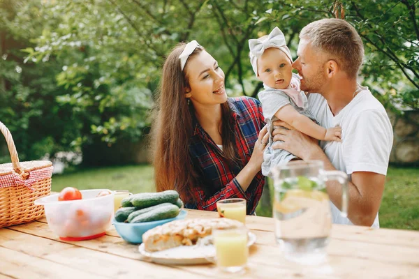
POLYGON ((12 135, 0 122, 6 137, 12 163, 0 164, 0 227, 31 222, 43 217, 43 206, 35 199, 50 195, 52 163, 30 161, 19 163, 12 135))

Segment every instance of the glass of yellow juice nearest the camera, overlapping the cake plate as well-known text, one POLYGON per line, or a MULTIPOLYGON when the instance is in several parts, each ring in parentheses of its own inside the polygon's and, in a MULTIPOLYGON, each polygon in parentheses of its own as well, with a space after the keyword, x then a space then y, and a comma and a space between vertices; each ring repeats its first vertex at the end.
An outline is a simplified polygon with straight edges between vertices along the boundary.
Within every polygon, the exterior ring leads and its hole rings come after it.
POLYGON ((215 258, 212 262, 221 271, 240 273, 247 266, 249 248, 247 247, 247 228, 230 227, 212 229, 212 239, 215 246, 215 258))

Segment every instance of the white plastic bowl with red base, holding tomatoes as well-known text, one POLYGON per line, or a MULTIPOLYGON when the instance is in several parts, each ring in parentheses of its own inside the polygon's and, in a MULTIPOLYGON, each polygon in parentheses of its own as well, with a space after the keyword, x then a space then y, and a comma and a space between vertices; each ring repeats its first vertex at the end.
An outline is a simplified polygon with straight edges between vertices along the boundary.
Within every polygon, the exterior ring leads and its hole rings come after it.
POLYGON ((36 199, 45 207, 48 225, 64 241, 96 239, 105 235, 114 216, 114 194, 96 197, 108 189, 80 190, 82 199, 59 201, 58 195, 36 199))

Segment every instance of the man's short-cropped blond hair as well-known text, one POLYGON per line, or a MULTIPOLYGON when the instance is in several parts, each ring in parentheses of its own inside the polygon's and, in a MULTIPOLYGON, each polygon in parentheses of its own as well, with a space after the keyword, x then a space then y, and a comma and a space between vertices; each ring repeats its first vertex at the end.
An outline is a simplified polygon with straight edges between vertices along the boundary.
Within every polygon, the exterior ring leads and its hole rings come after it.
POLYGON ((364 59, 364 45, 351 24, 335 18, 317 20, 301 30, 302 38, 308 39, 315 51, 337 61, 348 77, 357 77, 364 59))

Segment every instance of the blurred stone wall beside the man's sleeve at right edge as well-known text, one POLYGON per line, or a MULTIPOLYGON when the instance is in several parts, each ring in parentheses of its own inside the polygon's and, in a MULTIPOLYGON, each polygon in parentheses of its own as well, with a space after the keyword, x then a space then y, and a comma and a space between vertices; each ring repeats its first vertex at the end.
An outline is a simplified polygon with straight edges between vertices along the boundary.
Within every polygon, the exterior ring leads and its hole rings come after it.
POLYGON ((419 111, 388 112, 394 133, 390 163, 419 167, 419 111))

